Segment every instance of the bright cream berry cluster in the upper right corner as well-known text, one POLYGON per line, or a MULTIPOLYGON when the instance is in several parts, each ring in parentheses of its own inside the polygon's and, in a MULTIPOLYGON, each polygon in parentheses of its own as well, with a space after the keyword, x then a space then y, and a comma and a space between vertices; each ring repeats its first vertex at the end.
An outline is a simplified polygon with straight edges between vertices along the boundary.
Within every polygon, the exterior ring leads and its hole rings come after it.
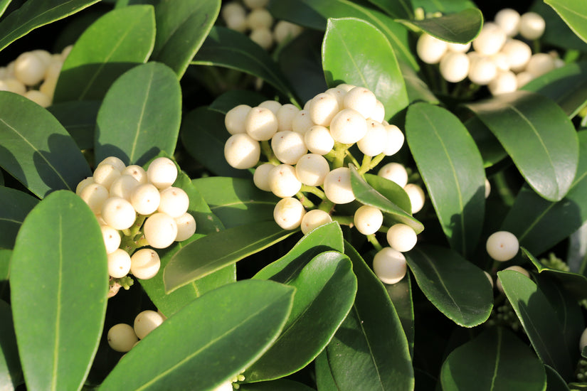
POLYGON ((471 43, 447 43, 427 33, 418 38, 416 50, 425 63, 440 63, 440 74, 448 82, 468 77, 499 95, 564 65, 556 53, 532 54, 530 46, 522 41, 540 38, 545 25, 544 18, 535 12, 520 15, 514 9, 502 9, 495 21, 485 23, 468 53, 471 43), (522 39, 515 39, 517 34, 522 39))

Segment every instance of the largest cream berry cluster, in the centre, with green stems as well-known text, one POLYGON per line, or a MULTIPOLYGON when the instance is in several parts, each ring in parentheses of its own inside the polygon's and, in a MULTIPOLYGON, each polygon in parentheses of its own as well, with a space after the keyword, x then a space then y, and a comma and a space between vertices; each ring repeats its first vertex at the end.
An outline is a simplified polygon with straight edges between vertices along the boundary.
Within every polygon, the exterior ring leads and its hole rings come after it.
MULTIPOLYGON (((345 161, 366 173, 403 146, 401 130, 384 118, 384 105, 373 92, 346 84, 316 95, 303 109, 273 100, 258 107, 238 105, 226 113, 226 129, 232 135, 224 156, 234 168, 255 167, 255 186, 282 198, 273 217, 285 230, 301 227, 307 233, 334 217, 371 241, 376 240, 376 232, 387 231, 390 247, 378 253, 374 270, 382 281, 393 284, 406 274, 401 252, 416 245, 416 232, 404 224, 382 227, 384 215, 371 205, 358 205, 352 216, 333 216, 336 205, 356 200, 345 161), (364 155, 361 165, 349 151, 354 146, 364 155), (262 152, 267 162, 260 161, 262 152), (308 194, 319 198, 319 205, 308 194)), ((408 173, 401 164, 386 164, 379 175, 406 190, 412 213, 422 208, 423 190, 407 183, 408 173)))

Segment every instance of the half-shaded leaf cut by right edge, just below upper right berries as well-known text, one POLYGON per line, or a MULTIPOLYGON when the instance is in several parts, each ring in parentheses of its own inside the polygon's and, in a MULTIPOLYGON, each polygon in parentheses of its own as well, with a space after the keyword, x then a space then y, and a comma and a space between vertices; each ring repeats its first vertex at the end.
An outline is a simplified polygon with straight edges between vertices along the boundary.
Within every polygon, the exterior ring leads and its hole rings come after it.
POLYGON ((549 97, 573 118, 587 105, 586 73, 587 61, 567 64, 531 80, 522 90, 549 97))

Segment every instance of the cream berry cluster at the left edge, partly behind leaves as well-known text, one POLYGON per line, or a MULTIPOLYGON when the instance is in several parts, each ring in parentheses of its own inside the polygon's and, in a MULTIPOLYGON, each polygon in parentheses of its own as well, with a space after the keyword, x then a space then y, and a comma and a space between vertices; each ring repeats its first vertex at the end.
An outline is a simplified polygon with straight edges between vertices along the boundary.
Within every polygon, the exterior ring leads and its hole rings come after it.
POLYGON ((23 95, 42 107, 51 106, 61 67, 70 50, 71 46, 57 54, 47 50, 22 53, 0 68, 0 91, 23 95))

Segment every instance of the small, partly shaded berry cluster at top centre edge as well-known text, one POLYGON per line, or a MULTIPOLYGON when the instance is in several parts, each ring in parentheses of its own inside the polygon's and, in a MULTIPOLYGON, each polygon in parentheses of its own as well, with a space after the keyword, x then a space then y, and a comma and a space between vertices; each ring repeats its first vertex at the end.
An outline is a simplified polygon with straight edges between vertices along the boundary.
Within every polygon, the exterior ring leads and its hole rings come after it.
POLYGON ((302 28, 288 21, 277 21, 274 26, 273 16, 265 9, 268 2, 269 0, 243 0, 243 6, 232 1, 222 7, 221 15, 228 28, 240 33, 249 31, 253 42, 269 50, 274 42, 282 43, 299 35, 302 28))

